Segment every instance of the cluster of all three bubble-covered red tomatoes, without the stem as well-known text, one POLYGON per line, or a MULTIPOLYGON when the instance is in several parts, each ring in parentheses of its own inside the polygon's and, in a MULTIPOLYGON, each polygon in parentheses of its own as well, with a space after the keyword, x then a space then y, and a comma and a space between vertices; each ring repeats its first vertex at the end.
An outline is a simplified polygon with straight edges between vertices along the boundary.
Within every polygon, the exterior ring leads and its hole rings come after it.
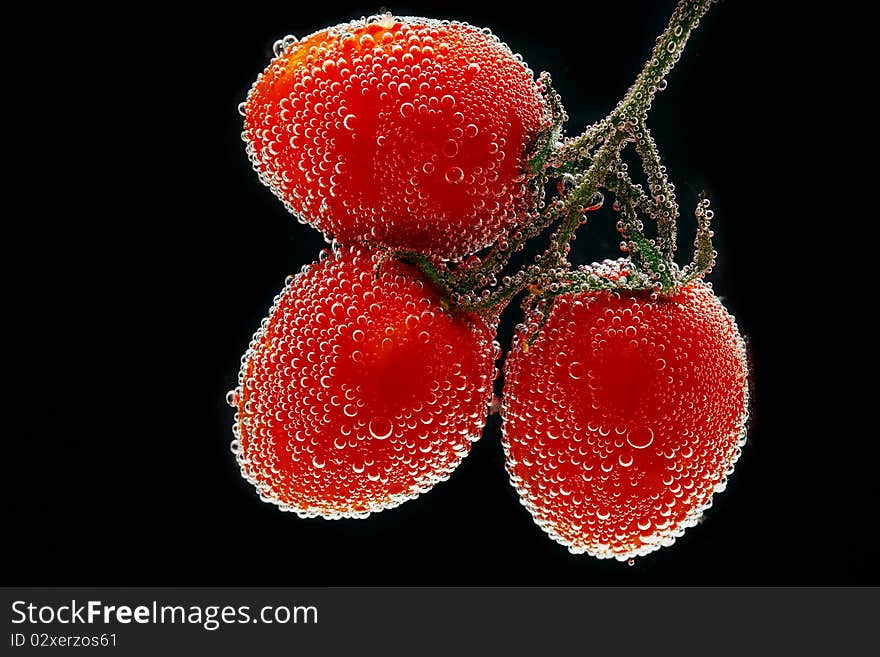
MULTIPOLYGON (((498 309, 432 272, 529 225, 547 95, 487 30, 385 15, 279 42, 241 111, 260 179, 334 248, 290 277, 242 358, 233 451, 283 510, 394 507, 480 437, 498 309)), ((702 281, 563 291, 507 356, 511 483, 571 551, 645 554, 723 488, 747 401, 742 339, 702 281)))

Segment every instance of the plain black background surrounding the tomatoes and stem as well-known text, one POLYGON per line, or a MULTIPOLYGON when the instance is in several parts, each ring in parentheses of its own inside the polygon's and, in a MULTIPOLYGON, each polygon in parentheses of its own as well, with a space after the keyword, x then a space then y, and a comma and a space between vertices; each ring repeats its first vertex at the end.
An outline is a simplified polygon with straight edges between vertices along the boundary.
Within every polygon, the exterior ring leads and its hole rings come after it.
MULTIPOLYGON (((672 6, 390 8, 491 27, 553 75, 576 134, 626 91, 672 6)), ((25 206, 7 220, 2 582, 877 584, 866 268, 846 255, 858 235, 832 229, 833 193, 785 141, 802 106, 794 18, 771 23, 751 3, 712 8, 650 118, 680 192, 680 257, 705 190, 710 280, 754 363, 749 443, 705 521, 633 567, 570 555, 519 505, 497 416, 448 482, 368 520, 301 520, 257 499, 228 449, 224 396, 285 276, 325 244, 259 185, 236 106, 276 38, 379 9, 78 8, 33 40, 16 78, 27 92, 9 104, 24 174, 10 194, 25 206), (810 214, 791 205, 804 196, 810 214)), ((616 243, 600 213, 574 258, 616 257, 616 243)), ((503 346, 515 321, 514 308, 503 346)))

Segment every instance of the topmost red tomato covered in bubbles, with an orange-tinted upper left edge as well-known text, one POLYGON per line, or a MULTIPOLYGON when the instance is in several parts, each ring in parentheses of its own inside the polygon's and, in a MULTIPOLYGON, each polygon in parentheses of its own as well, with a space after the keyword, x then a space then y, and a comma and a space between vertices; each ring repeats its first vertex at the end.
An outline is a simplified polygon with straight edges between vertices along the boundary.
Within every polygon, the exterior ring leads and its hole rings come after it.
POLYGON ((491 32, 384 15, 276 50, 242 104, 242 136, 301 221, 341 243, 454 258, 524 219, 545 109, 491 32))

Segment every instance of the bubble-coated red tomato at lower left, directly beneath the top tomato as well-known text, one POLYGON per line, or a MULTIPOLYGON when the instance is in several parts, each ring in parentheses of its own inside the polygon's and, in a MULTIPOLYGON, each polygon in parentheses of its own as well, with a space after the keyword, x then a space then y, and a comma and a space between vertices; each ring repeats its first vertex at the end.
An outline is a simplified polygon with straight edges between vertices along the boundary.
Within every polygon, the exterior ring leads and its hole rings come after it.
POLYGON ((365 517, 448 477, 480 436, 498 346, 418 271, 325 252, 290 277, 242 357, 232 451, 264 501, 365 517))

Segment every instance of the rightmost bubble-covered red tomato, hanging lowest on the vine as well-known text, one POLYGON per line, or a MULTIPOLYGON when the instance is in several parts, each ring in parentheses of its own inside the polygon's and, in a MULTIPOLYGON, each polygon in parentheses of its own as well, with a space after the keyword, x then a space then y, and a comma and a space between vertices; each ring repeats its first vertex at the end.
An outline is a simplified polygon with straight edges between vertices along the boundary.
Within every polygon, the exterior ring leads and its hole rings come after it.
POLYGON ((510 481, 573 553, 671 545, 723 490, 748 408, 746 351, 710 287, 558 298, 505 363, 510 481))

